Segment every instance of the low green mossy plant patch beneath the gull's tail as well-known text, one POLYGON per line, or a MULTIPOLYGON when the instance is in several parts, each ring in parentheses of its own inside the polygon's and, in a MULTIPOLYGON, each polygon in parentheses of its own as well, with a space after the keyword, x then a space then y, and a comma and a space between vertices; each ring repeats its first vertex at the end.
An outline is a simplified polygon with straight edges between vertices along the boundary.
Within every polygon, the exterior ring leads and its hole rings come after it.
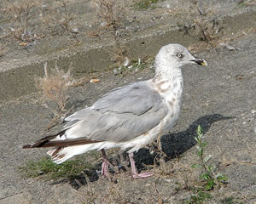
POLYGON ((61 164, 55 164, 51 159, 43 157, 40 161, 28 161, 26 166, 20 167, 23 177, 35 178, 44 176, 46 179, 75 178, 85 169, 92 169, 90 163, 85 162, 83 156, 77 156, 74 160, 68 160, 61 164))

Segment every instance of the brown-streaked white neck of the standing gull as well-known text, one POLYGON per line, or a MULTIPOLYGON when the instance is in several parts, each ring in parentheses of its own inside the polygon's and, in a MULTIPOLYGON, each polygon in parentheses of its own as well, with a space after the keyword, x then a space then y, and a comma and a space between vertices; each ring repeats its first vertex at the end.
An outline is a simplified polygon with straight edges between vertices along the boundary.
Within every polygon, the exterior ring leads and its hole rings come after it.
POLYGON ((180 99, 183 93, 183 76, 180 69, 156 71, 151 80, 153 87, 165 99, 180 99))

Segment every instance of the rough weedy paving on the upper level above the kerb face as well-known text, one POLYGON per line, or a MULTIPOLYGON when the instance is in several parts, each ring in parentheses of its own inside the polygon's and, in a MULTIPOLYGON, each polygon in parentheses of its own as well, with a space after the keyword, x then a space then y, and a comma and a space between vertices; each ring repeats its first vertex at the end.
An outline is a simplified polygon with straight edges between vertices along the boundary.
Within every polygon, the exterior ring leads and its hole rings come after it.
MULTIPOLYGON (((0 26, 0 48, 7 46, 4 49, 4 53, 0 56, 0 62, 31 58, 32 56, 61 54, 61 51, 71 48, 79 48, 79 44, 83 44, 83 47, 88 48, 90 46, 97 47, 102 44, 108 44, 106 38, 109 41, 109 32, 101 37, 93 37, 92 33, 99 34, 99 31, 104 31, 104 26, 108 24, 106 20, 99 18, 99 9, 96 9, 96 3, 90 0, 69 0, 67 1, 67 14, 72 17, 69 25, 69 31, 62 29, 61 20, 65 19, 64 8, 61 1, 49 1, 41 0, 32 7, 29 20, 28 20, 28 33, 36 35, 32 37, 31 42, 27 42, 28 46, 20 46, 20 41, 13 37, 11 28, 18 31, 24 27, 22 24, 25 22, 25 17, 20 14, 20 21, 15 20, 14 13, 10 13, 8 8, 12 8, 16 5, 19 8, 19 3, 12 4, 5 1, 0 3, 1 9, 1 26, 0 26), (49 20, 54 19, 53 20, 49 20), (100 27, 100 29, 99 29, 100 27), (73 32, 73 29, 77 32, 73 32), (101 38, 103 41, 101 41, 101 38), (105 41, 105 42, 104 42, 105 41), (86 42, 86 43, 83 43, 86 42), (11 45, 11 46, 10 46, 11 45)), ((20 1, 20 2, 29 2, 20 1)), ((215 20, 218 24, 218 20, 224 19, 227 16, 241 14, 248 12, 255 8, 255 3, 252 0, 239 1, 232 0, 214 0, 211 3, 205 1, 198 1, 198 8, 193 1, 158 1, 158 3, 152 3, 154 9, 138 9, 135 3, 140 1, 122 1, 119 0, 117 4, 117 12, 114 16, 117 16, 119 6, 121 11, 125 12, 125 17, 121 18, 119 32, 124 32, 124 41, 128 41, 131 38, 148 36, 153 33, 161 33, 168 30, 180 27, 184 29, 193 30, 195 26, 193 18, 198 15, 197 9, 200 9, 203 19, 215 20), (124 3, 125 2, 125 3, 124 3)), ((22 5, 22 4, 21 4, 22 5)), ((24 5, 24 4, 23 4, 24 5)), ((118 18, 116 18, 118 19, 118 18)), ((218 25, 215 25, 218 26, 218 25)), ((241 25, 243 26, 243 25, 241 25)), ((198 36, 201 37, 201 36, 198 36)), ((111 39, 110 39, 111 40, 111 39)), ((23 42, 26 42, 24 40, 23 42)), ((36 59, 31 59, 36 60, 36 59)), ((4 64, 3 64, 4 65, 4 64)), ((3 68, 2 68, 3 69, 3 68)))

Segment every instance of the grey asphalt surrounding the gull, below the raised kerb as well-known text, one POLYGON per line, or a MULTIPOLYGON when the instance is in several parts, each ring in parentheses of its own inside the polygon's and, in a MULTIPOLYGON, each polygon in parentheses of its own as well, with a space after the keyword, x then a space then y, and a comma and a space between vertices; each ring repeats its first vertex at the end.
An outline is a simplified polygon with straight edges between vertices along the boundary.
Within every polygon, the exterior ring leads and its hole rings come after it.
MULTIPOLYGON (((221 171, 229 178, 228 187, 221 191, 222 196, 235 194, 244 203, 256 201, 255 38, 255 32, 251 32, 235 41, 226 42, 234 50, 220 46, 197 54, 207 60, 207 67, 193 65, 183 68, 181 115, 172 134, 162 137, 163 150, 168 156, 173 158, 180 155, 183 156, 180 162, 189 163, 195 154, 195 128, 200 124, 208 143, 207 154, 212 155, 214 165, 223 164, 221 171)), ((111 88, 153 75, 147 69, 125 77, 104 74, 100 82, 73 88, 69 105, 73 105, 73 111, 78 111, 85 105, 91 105, 111 88)), ((18 167, 29 160, 37 161, 46 153, 46 150, 21 149, 22 144, 41 138, 52 119, 52 113, 38 101, 38 97, 37 94, 26 95, 0 107, 0 203, 77 203, 79 190, 73 189, 68 183, 53 184, 38 178, 21 178, 18 167)), ((137 162, 147 160, 147 154, 139 151, 137 162)), ((166 165, 172 168, 172 161, 167 161, 166 165)), ((156 170, 159 168, 155 167, 156 170)), ((149 203, 155 203, 158 197, 155 190, 150 190, 154 189, 155 178, 157 176, 133 180, 129 175, 121 174, 117 175, 119 184, 116 186, 124 199, 144 203, 151 198, 149 203)), ((162 180, 159 187, 163 197, 168 197, 172 191, 172 182, 168 179, 162 180)), ((90 184, 93 189, 102 192, 97 195, 96 203, 105 201, 108 195, 104 190, 106 186, 113 188, 114 184, 106 182, 99 179, 90 184)), ((88 186, 84 185, 80 189, 86 188, 88 186)), ((180 199, 181 196, 177 195, 168 201, 178 203, 180 199)), ((215 199, 218 203, 218 198, 215 199)))

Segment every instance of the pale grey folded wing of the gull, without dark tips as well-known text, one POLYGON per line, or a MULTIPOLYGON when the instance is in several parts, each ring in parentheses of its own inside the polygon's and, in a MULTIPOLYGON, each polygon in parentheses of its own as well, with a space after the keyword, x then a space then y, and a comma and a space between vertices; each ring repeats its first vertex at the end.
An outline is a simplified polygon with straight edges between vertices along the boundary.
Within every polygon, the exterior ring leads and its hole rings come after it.
POLYGON ((167 108, 160 94, 145 82, 113 89, 96 101, 66 118, 68 139, 125 142, 157 126, 167 108))

